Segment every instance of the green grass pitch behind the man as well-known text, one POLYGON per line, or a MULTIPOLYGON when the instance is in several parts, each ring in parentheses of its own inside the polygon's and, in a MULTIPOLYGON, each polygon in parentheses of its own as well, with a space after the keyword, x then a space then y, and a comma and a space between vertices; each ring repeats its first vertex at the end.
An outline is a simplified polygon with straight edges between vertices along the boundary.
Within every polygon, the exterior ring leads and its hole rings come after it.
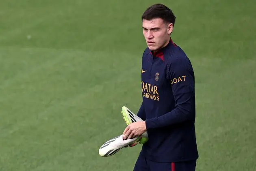
MULTIPOLYGON (((133 169, 140 145, 98 149, 126 127, 123 105, 139 109, 140 17, 154 3, 0 0, 1 171, 133 169)), ((256 170, 256 3, 161 3, 195 70, 197 171, 256 170)))

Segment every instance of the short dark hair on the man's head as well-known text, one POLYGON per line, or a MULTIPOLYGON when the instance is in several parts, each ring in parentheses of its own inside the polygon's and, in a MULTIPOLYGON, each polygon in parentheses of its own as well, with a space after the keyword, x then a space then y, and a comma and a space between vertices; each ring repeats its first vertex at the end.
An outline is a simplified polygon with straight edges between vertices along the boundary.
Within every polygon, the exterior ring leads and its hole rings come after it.
POLYGON ((176 19, 174 13, 167 6, 163 4, 154 4, 146 9, 141 20, 152 20, 156 18, 161 18, 164 22, 172 23, 173 25, 175 24, 176 19))

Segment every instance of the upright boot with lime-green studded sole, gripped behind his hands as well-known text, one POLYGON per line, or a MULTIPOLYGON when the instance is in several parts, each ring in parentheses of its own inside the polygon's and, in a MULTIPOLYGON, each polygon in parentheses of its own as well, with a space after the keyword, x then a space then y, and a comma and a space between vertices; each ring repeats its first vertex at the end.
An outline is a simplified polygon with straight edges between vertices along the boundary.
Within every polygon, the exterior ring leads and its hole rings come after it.
MULTIPOLYGON (((126 122, 127 125, 133 123, 133 122, 140 122, 143 121, 139 116, 135 115, 128 109, 127 107, 123 106, 122 115, 124 116, 123 119, 126 122)), ((145 133, 142 134, 142 138, 139 141, 140 144, 145 144, 148 141, 148 132, 146 131, 145 133)))

